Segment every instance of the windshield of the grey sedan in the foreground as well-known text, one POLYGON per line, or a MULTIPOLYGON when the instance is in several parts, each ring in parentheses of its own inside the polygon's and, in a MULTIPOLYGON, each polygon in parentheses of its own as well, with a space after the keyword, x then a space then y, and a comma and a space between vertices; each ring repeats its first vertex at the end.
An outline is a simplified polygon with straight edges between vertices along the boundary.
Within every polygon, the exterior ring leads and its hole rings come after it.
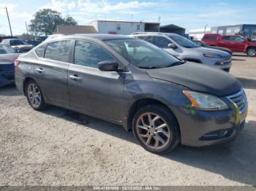
POLYGON ((159 47, 140 39, 111 39, 105 42, 141 69, 160 69, 183 63, 159 47))

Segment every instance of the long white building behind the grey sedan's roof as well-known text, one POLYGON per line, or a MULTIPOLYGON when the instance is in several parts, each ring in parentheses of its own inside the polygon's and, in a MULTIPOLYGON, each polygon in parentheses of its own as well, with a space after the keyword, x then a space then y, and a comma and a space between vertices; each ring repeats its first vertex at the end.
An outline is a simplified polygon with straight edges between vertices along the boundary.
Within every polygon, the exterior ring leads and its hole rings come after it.
POLYGON ((132 34, 144 31, 159 31, 159 23, 94 20, 89 23, 99 34, 132 34))

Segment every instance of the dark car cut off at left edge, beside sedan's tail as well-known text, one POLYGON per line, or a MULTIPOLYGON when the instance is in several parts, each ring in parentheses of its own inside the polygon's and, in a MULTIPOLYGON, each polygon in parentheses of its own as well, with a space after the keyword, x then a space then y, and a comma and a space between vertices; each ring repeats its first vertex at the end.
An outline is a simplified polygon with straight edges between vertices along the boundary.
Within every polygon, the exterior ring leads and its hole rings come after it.
POLYGON ((0 87, 14 82, 14 61, 20 53, 0 43, 0 87))

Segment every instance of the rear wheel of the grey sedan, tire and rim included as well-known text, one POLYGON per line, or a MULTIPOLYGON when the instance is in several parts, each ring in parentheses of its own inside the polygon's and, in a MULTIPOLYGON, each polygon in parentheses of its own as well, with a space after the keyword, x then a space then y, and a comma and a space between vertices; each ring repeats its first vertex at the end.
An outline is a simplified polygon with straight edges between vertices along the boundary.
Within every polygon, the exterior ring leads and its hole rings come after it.
POLYGON ((26 98, 34 110, 42 111, 47 106, 42 91, 34 80, 29 80, 26 83, 26 98))

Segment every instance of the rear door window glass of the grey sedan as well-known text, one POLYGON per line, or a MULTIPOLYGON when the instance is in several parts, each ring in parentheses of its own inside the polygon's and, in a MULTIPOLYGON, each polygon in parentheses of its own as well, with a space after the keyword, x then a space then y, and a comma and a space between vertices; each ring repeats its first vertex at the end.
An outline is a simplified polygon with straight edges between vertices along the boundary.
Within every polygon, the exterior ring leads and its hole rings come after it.
POLYGON ((45 58, 69 63, 69 47, 71 41, 51 42, 45 49, 45 58))

